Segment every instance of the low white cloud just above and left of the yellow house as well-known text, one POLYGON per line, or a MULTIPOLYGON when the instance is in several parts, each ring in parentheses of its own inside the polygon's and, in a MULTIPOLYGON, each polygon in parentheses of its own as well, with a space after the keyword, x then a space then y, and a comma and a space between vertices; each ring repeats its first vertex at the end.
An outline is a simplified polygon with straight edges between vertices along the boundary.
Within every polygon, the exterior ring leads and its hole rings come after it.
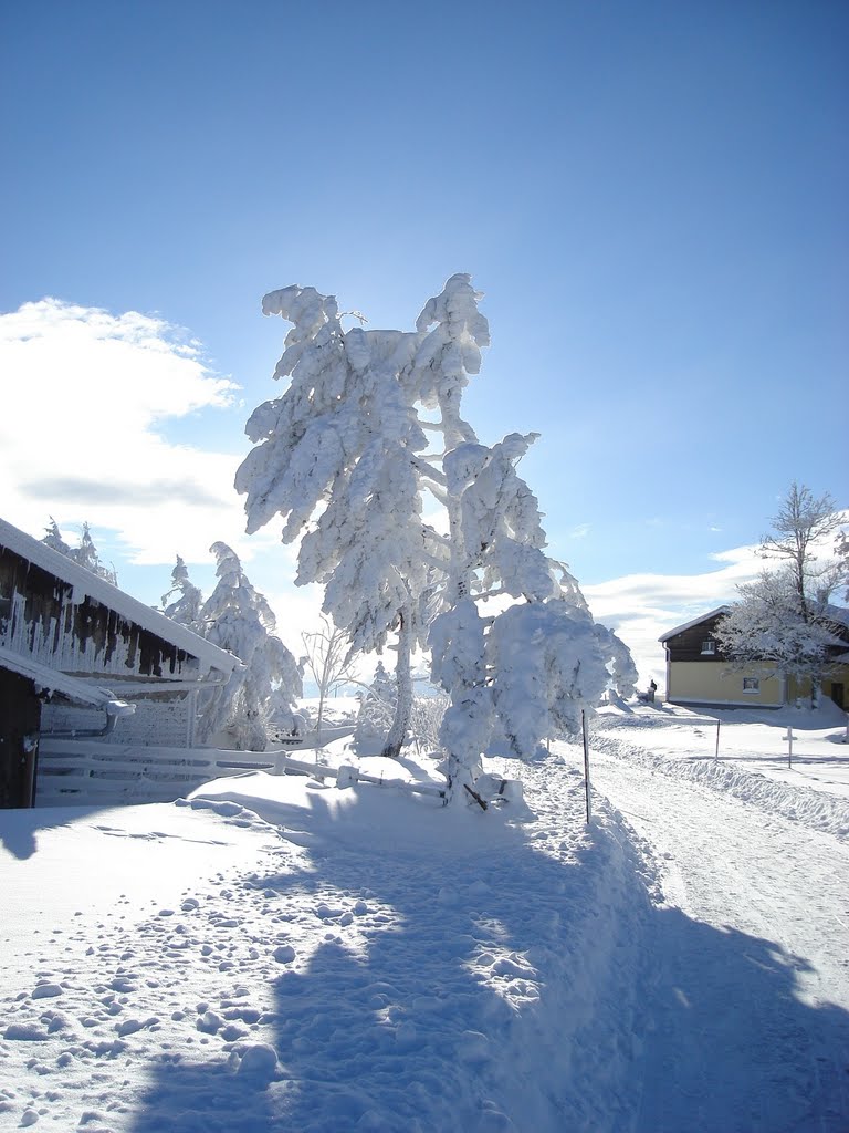
POLYGON ((609 625, 631 649, 641 680, 666 684, 661 633, 734 602, 737 587, 763 569, 757 547, 734 547, 710 556, 718 570, 701 574, 625 574, 582 589, 597 621, 609 625))

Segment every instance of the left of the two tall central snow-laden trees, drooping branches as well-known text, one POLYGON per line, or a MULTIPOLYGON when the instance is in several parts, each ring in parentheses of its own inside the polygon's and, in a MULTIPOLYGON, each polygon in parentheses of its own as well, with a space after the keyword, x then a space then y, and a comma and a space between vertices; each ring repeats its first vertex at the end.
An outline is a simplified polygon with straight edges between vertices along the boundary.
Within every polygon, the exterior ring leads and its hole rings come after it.
POLYGON ((280 514, 284 542, 303 535, 295 582, 326 587, 324 611, 352 654, 380 649, 395 625, 404 640, 415 591, 405 574, 421 571, 412 547, 422 542, 410 458, 426 444, 396 381, 412 335, 346 334, 335 299, 314 288, 271 292, 263 310, 293 323, 275 370, 291 381, 247 425, 257 448, 235 487, 247 494, 248 531, 280 514))

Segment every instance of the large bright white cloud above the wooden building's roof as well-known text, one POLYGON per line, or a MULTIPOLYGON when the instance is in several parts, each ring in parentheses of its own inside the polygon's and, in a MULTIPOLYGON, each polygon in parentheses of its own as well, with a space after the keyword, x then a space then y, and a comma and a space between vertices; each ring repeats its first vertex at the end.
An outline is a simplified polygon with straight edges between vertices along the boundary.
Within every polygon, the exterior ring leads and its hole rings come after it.
POLYGON ((109 528, 137 563, 208 560, 213 539, 250 557, 240 457, 166 440, 158 429, 225 407, 238 389, 198 344, 137 312, 112 315, 43 299, 0 316, 3 518, 34 535, 54 516, 109 528))

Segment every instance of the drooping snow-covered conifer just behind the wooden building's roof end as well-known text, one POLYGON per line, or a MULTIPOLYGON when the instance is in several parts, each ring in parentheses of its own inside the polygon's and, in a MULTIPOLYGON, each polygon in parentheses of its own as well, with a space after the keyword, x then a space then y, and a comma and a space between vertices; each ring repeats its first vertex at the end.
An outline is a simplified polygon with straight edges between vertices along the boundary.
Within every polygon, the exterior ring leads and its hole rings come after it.
POLYGON ((302 695, 301 674, 292 654, 274 636, 276 621, 263 594, 242 570, 225 543, 209 548, 217 562, 217 586, 204 603, 200 619, 206 638, 235 654, 243 667, 233 671, 203 716, 204 734, 226 727, 237 747, 264 751, 266 722, 281 707, 291 707, 302 695))

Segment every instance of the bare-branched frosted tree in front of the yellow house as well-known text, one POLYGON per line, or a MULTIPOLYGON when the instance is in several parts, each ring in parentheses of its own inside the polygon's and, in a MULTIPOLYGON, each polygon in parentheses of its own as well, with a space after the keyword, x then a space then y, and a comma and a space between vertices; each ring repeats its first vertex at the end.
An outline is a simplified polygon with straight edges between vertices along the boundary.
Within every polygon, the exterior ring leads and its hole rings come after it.
POLYGON ((807 678, 814 702, 843 646, 830 597, 844 585, 846 572, 826 547, 841 522, 827 493, 815 497, 794 482, 772 520, 772 534, 761 542, 762 556, 779 565, 738 587, 739 600, 715 629, 722 653, 735 665, 767 664, 786 676, 807 678))

